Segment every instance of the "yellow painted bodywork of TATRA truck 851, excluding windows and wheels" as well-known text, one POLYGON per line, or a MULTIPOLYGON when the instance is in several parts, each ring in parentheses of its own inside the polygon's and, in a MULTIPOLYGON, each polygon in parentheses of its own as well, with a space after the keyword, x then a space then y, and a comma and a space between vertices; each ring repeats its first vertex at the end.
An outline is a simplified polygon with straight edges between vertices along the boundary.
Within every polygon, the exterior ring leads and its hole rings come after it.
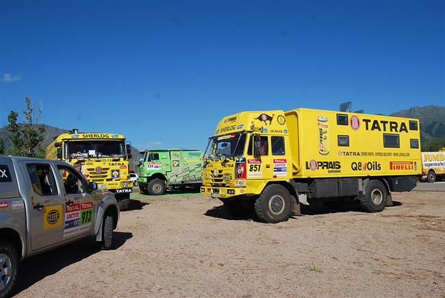
POLYGON ((219 121, 214 137, 238 132, 246 134, 244 153, 238 157, 246 160, 245 186, 233 186, 234 182, 221 186, 212 175, 216 169, 222 171, 220 175, 230 173, 234 177, 235 160, 207 160, 203 169, 203 194, 209 195, 214 192, 212 188, 219 188, 235 190, 235 194, 231 195, 225 192, 227 197, 242 193, 258 195, 271 181, 289 182, 292 178, 312 177, 420 175, 422 171, 418 119, 304 108, 288 112, 240 112, 219 121), (338 124, 338 115, 347 116, 345 125, 338 124), (410 121, 411 124, 417 124, 417 130, 410 129, 410 121), (247 147, 253 134, 269 137, 269 156, 249 156, 247 147), (384 147, 383 134, 398 135, 400 147, 384 147), (271 136, 284 137, 285 155, 271 155, 271 136), (349 145, 340 146, 339 136, 347 136, 349 145), (411 148, 411 139, 418 140, 419 148, 411 148), (250 169, 249 160, 259 160, 255 163, 260 166, 250 169), (274 165, 281 169, 287 166, 287 171, 277 172, 274 165))

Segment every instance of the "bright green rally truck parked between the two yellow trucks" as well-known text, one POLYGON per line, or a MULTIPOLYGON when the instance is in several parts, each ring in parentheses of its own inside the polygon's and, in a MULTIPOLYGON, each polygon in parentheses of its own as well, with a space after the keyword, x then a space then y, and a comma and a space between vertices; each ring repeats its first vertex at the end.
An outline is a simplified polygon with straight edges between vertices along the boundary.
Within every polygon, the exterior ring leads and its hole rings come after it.
POLYGON ((162 195, 166 188, 199 189, 202 184, 203 151, 156 149, 139 153, 140 193, 162 195))

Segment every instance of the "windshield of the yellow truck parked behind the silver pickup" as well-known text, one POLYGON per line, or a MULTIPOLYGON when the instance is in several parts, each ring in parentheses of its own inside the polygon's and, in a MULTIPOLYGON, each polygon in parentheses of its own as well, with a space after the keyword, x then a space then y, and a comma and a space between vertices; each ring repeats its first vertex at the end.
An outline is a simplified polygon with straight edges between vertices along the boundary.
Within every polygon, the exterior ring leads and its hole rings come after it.
POLYGON ((76 158, 108 158, 125 156, 125 142, 122 140, 78 140, 68 143, 68 156, 76 158))

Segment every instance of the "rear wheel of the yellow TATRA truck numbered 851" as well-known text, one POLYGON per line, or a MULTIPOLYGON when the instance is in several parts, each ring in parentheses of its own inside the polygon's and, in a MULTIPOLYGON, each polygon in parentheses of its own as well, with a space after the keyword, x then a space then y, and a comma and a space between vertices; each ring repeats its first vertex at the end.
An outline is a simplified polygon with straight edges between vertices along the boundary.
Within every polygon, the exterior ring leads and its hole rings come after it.
POLYGON ((370 180, 366 184, 366 195, 360 198, 360 205, 366 212, 381 212, 385 209, 387 190, 379 180, 370 180))

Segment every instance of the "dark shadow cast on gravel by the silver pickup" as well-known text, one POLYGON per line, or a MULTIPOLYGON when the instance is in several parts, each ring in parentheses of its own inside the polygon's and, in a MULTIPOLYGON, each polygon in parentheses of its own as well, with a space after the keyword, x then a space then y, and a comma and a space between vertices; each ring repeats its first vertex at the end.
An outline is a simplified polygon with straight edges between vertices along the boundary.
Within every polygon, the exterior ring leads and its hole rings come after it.
MULTIPOLYGON (((118 249, 124 245, 125 241, 133 237, 133 234, 127 232, 114 232, 113 236, 113 249, 118 249)), ((64 269, 66 266, 75 264, 84 258, 88 258, 100 250, 99 245, 93 238, 86 238, 70 245, 23 260, 20 264, 18 279, 14 286, 12 296, 21 293, 21 291, 44 279, 44 277, 53 275, 64 269)))

